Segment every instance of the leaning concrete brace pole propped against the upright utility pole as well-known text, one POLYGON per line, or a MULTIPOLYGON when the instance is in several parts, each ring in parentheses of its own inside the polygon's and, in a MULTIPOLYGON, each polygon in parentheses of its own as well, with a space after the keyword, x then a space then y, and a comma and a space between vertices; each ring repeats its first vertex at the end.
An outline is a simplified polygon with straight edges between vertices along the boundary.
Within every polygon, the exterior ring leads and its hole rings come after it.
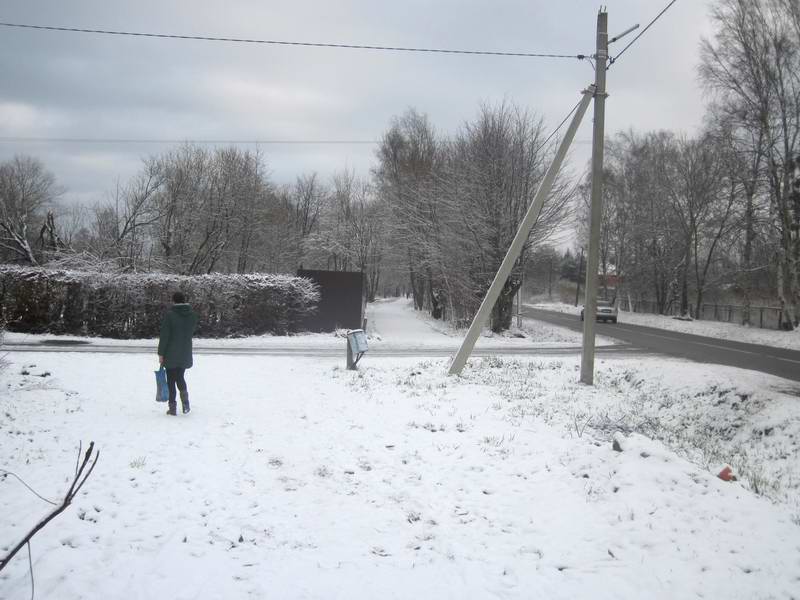
POLYGON ((569 146, 575 137, 575 132, 578 130, 578 126, 581 124, 583 115, 586 113, 586 109, 589 107, 589 102, 593 96, 594 86, 590 86, 589 89, 583 91, 583 99, 578 104, 578 108, 575 111, 575 116, 572 118, 572 122, 569 124, 567 132, 564 134, 564 139, 561 140, 561 144, 558 147, 558 151, 553 159, 553 163, 550 165, 547 173, 545 173, 544 179, 542 180, 542 183, 533 198, 533 202, 528 207, 528 211, 525 213, 525 218, 522 219, 522 223, 520 223, 519 229, 517 229, 517 234, 514 236, 514 241, 511 242, 511 247, 508 249, 506 257, 500 264, 500 268, 498 269, 497 274, 494 276, 494 281, 492 281, 489 291, 486 292, 486 297, 483 299, 481 307, 478 309, 478 312, 472 319, 472 325, 469 327, 467 336, 464 338, 464 341, 461 342, 461 347, 458 349, 458 353, 450 365, 450 375, 460 375, 461 370, 467 363, 467 359, 472 353, 472 349, 475 347, 475 342, 478 340, 481 328, 488 320, 489 314, 492 312, 495 302, 497 302, 497 298, 500 297, 500 291, 503 289, 508 276, 511 274, 511 269, 514 267, 514 262, 522 253, 522 248, 525 245, 525 242, 528 240, 528 235, 530 235, 531 229, 533 229, 533 226, 536 224, 536 220, 539 218, 539 213, 542 211, 544 201, 547 199, 550 189, 553 187, 553 182, 558 174, 558 170, 561 168, 561 163, 564 162, 564 158, 567 155, 567 150, 569 150, 569 146))

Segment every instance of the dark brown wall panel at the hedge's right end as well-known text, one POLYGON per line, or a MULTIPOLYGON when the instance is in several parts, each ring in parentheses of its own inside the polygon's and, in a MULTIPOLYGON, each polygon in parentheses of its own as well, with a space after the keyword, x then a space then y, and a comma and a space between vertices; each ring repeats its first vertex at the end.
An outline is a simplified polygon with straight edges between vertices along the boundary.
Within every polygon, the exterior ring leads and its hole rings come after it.
POLYGON ((360 329, 364 319, 364 274, 351 271, 312 271, 300 269, 298 277, 306 277, 319 285, 317 313, 305 317, 306 331, 360 329))

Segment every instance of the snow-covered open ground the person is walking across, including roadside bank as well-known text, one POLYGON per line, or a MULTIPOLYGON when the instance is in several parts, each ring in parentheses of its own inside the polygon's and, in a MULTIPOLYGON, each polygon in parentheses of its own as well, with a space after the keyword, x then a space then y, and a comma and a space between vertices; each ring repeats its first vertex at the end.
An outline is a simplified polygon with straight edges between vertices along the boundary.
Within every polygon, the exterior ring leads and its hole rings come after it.
MULTIPOLYGON (((442 335, 404 306, 371 310, 384 343, 442 335)), ((193 410, 167 417, 155 354, 6 360, 0 469, 58 501, 78 444, 100 451, 33 538, 37 598, 800 597, 800 390, 782 379, 198 355, 193 410)), ((52 508, 0 473, 0 558, 52 508)), ((30 594, 24 549, 0 598, 30 594)))

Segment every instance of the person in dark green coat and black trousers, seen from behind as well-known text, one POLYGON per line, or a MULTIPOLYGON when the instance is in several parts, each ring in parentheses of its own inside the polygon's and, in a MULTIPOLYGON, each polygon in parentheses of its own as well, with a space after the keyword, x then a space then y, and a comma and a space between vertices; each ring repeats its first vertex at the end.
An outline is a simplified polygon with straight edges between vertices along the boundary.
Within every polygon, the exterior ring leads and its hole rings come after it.
POLYGON ((192 335, 197 327, 197 313, 186 302, 183 292, 172 294, 172 302, 172 307, 161 319, 158 337, 158 363, 167 370, 168 415, 177 413, 176 387, 181 394, 183 413, 190 410, 189 390, 183 375, 192 366, 192 335))

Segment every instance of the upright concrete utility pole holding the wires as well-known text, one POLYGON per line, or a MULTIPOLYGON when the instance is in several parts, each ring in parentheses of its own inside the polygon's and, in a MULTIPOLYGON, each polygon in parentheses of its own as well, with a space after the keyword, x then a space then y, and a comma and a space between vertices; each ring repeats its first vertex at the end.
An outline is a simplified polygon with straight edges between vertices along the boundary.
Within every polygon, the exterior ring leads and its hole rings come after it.
POLYGON ((597 14, 595 55, 594 132, 592 134, 592 211, 589 254, 586 257, 586 302, 583 317, 581 382, 594 383, 594 329, 597 315, 597 267, 600 263, 600 221, 603 212, 603 144, 606 118, 606 64, 608 63, 608 13, 597 14))

